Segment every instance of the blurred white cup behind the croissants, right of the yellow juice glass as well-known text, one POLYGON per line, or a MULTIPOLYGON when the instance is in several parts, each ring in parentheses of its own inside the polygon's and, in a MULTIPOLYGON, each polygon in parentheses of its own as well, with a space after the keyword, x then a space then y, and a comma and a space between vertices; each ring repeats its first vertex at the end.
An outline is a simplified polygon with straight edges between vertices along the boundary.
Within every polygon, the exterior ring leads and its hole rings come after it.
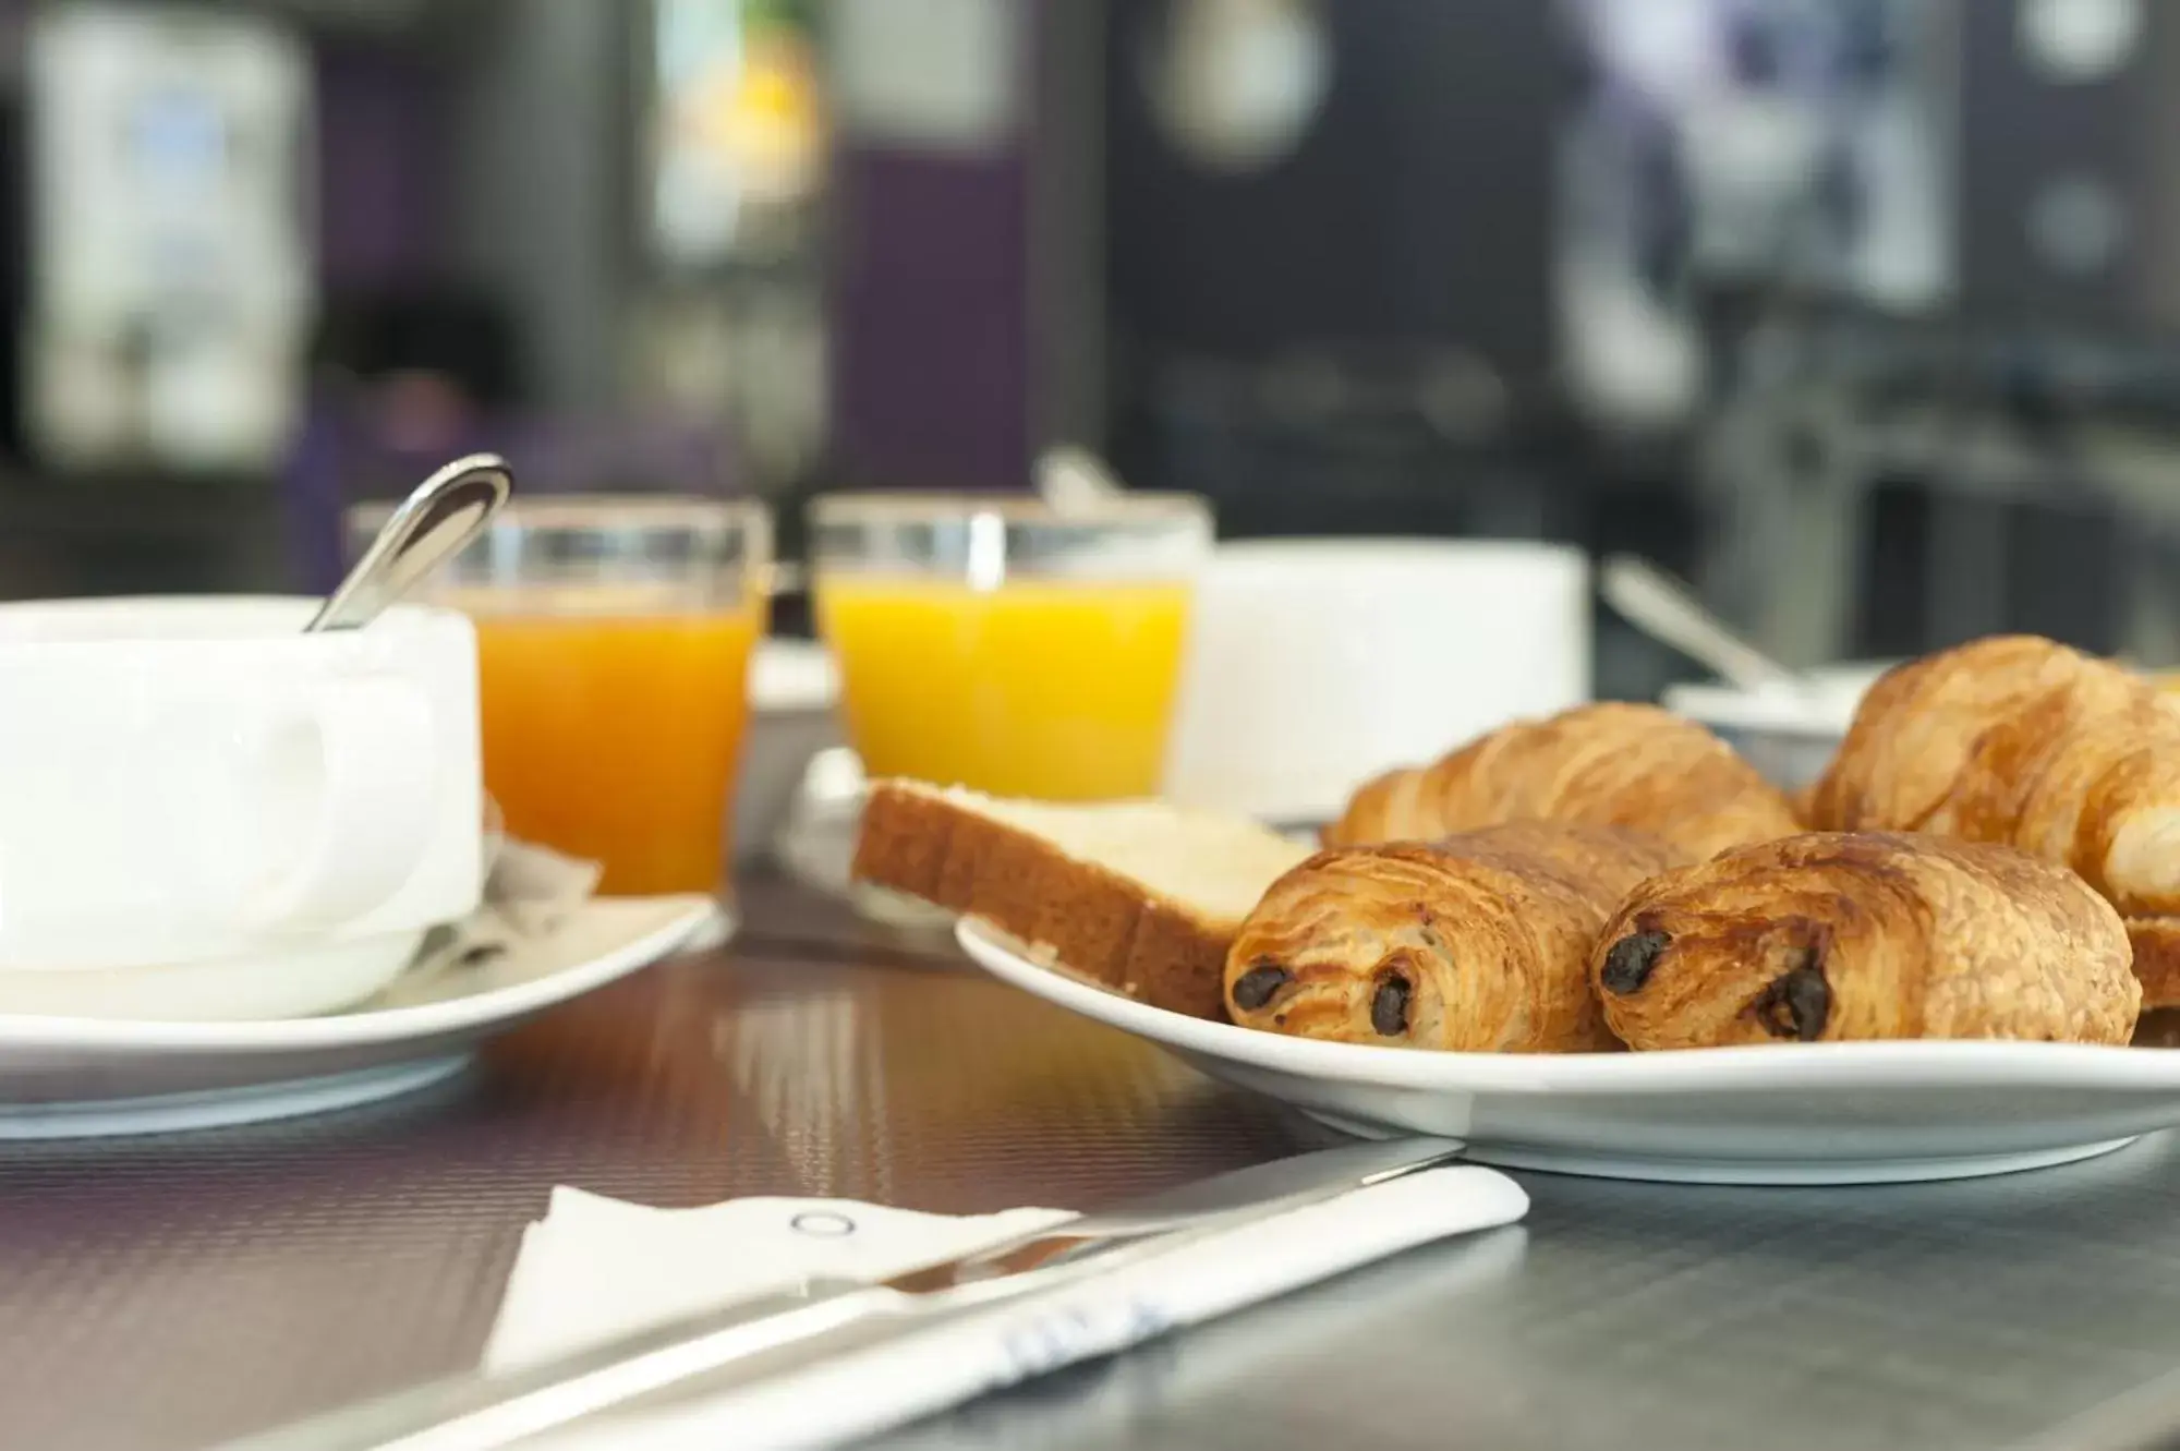
POLYGON ((1221 545, 1166 795, 1325 821, 1369 776, 1589 697, 1589 562, 1482 540, 1221 545))

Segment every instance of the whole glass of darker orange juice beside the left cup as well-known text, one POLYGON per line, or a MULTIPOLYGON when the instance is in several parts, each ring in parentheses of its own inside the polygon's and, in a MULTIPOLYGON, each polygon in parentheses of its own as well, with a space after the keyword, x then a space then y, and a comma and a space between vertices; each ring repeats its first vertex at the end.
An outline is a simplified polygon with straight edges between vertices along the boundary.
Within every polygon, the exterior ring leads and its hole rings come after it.
MULTIPOLYGON (((353 510, 351 540, 384 514, 353 510)), ((595 495, 514 499, 438 573, 477 625, 508 834, 600 863, 606 893, 726 885, 770 566, 761 505, 595 495)))

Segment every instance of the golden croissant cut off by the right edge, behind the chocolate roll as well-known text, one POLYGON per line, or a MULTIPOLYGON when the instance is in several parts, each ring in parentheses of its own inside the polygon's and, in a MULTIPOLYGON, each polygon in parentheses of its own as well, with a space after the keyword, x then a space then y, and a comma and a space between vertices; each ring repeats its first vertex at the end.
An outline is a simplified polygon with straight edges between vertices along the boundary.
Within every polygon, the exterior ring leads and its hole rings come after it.
POLYGON ((2180 913, 2180 712, 2110 660, 1973 641, 1870 686, 1809 819, 1999 841, 2073 867, 2123 915, 2180 913))

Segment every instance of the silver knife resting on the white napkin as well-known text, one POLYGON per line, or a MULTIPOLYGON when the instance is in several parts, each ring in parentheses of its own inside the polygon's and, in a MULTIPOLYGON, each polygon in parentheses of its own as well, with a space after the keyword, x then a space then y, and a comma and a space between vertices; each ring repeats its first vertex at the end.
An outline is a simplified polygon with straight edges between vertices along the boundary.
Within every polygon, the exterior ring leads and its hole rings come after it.
POLYGON ((229 1451, 501 1451, 667 1390, 691 1390, 765 1351, 907 1314, 953 1312, 1092 1275, 1129 1248, 1227 1231, 1448 1163, 1454 1139, 1343 1144, 1083 1214, 881 1283, 811 1281, 669 1320, 504 1375, 469 1373, 249 1436, 229 1451))

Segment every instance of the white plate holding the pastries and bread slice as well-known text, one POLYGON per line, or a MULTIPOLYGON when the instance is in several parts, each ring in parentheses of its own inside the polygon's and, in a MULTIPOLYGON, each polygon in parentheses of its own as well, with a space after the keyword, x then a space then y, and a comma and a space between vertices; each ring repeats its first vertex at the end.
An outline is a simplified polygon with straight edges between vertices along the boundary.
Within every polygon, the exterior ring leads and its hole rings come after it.
POLYGON ((1144 1007, 961 922, 992 976, 1149 1039, 1214 1078, 1360 1135, 1613 1179, 1877 1183, 2086 1159, 2180 1124, 2180 1050, 2080 1044, 1779 1044, 1493 1054, 1323 1044, 1144 1007))

